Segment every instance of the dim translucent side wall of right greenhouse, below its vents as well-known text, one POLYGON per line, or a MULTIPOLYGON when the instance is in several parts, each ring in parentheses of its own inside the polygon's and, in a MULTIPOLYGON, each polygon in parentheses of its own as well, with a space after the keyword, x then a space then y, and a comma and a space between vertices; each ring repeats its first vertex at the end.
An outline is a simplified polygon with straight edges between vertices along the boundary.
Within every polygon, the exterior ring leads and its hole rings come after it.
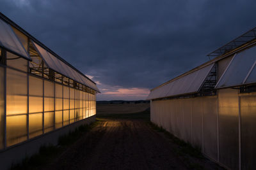
POLYGON ((150 101, 150 120, 230 169, 256 162, 256 92, 220 89, 217 96, 150 101), (239 163, 240 162, 240 163, 239 163))

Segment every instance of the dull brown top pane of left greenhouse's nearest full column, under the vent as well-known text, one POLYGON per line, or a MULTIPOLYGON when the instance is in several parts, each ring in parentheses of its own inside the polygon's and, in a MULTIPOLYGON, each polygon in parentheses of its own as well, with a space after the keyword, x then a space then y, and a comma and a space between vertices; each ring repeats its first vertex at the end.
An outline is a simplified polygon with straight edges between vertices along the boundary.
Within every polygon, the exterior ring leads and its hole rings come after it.
POLYGON ((6 53, 6 65, 21 71, 28 72, 28 60, 22 59, 10 52, 6 53))

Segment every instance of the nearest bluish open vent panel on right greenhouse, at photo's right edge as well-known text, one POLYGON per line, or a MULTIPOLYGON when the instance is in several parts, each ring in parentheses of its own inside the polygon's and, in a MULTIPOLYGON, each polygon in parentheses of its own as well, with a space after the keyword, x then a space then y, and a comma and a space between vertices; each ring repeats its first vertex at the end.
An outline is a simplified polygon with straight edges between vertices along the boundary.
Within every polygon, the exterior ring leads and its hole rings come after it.
POLYGON ((237 53, 221 76, 216 89, 233 87, 246 83, 256 83, 255 73, 256 46, 237 53), (252 71, 252 72, 250 72, 252 71))

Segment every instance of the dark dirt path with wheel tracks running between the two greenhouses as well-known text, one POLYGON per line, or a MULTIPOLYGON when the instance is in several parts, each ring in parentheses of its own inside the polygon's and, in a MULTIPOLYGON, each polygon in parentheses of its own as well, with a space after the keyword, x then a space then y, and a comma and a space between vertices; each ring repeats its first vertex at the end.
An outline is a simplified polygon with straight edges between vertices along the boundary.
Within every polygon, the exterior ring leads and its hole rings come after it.
POLYGON ((173 147, 143 120, 103 119, 45 169, 188 169, 173 147))

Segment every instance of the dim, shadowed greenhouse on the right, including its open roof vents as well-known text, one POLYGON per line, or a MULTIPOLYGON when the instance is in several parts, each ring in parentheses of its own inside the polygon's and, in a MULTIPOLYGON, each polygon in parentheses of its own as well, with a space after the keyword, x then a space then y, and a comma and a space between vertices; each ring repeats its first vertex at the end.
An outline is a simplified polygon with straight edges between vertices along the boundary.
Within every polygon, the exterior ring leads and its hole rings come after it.
POLYGON ((256 166, 256 28, 150 91, 150 120, 228 169, 256 166))

